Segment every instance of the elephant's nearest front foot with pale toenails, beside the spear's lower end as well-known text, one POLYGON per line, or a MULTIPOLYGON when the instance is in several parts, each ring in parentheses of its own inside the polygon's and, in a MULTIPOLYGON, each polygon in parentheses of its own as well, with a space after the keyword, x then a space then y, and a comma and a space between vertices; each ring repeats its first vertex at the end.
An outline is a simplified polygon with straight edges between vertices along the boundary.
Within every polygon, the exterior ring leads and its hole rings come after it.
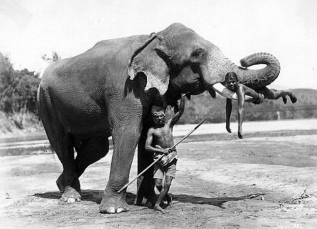
POLYGON ((126 193, 108 193, 104 192, 103 199, 100 203, 99 210, 101 213, 121 213, 129 211, 129 206, 126 202, 126 193))

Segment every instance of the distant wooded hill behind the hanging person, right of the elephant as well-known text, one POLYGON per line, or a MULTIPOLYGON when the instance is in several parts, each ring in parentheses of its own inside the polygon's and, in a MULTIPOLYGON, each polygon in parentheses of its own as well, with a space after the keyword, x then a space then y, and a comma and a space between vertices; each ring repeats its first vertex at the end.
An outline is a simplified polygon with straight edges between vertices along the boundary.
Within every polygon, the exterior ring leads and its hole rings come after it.
MULTIPOLYGON (((277 120, 277 119, 301 119, 317 118, 317 90, 292 89, 297 97, 297 102, 292 104, 288 98, 284 104, 282 98, 279 100, 264 100, 263 103, 255 105, 246 102, 244 105, 244 121, 277 120)), ((238 102, 233 101, 231 121, 238 120, 238 102)), ((192 96, 190 101, 186 99, 185 113, 179 124, 199 123, 208 117, 206 123, 221 123, 226 121, 226 99, 216 95, 212 99, 208 92, 192 96)), ((167 112, 171 115, 171 110, 167 112)))

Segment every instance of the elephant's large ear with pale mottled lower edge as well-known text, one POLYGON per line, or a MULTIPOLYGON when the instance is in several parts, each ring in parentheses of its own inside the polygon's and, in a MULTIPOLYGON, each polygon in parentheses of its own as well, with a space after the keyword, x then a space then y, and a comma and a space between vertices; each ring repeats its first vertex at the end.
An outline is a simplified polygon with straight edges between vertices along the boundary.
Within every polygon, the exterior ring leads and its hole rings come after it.
POLYGON ((130 58, 128 68, 130 79, 133 80, 138 73, 144 73, 147 76, 144 90, 155 87, 159 90, 159 94, 165 94, 169 83, 169 67, 165 59, 167 56, 162 38, 155 33, 151 34, 130 58))

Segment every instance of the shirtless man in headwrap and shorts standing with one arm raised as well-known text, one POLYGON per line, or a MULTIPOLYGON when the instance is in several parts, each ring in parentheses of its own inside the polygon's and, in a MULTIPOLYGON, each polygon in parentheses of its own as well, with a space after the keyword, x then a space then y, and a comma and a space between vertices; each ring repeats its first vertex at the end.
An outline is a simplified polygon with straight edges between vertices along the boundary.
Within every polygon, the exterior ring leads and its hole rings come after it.
POLYGON ((162 107, 153 106, 152 116, 154 127, 151 127, 148 130, 145 141, 145 150, 154 153, 154 160, 156 160, 162 153, 165 154, 165 156, 154 164, 155 185, 160 192, 154 210, 163 213, 165 213, 165 210, 160 207, 160 204, 164 197, 167 199, 167 206, 172 207, 172 198, 168 195, 168 190, 173 178, 175 178, 178 157, 176 150, 171 148, 174 145, 172 131, 174 125, 184 113, 184 109, 185 94, 182 94, 179 110, 165 123, 165 110, 162 107), (164 175, 165 181, 164 185, 162 185, 164 175))

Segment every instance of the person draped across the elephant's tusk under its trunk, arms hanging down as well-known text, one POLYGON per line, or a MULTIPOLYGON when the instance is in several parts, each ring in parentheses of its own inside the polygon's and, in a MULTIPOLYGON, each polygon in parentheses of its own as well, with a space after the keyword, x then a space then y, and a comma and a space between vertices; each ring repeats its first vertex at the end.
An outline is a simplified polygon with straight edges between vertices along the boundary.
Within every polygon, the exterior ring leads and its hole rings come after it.
MULTIPOLYGON (((238 76, 234 72, 230 72, 225 76, 225 86, 233 92, 236 92, 238 95, 238 137, 240 139, 243 138, 241 135, 242 132, 242 122, 243 122, 243 107, 245 100, 245 95, 252 97, 251 100, 247 102, 252 102, 254 104, 260 104, 264 101, 264 99, 269 100, 277 100, 282 97, 283 102, 286 104, 287 98, 289 96, 291 102, 294 103, 297 101, 296 96, 291 91, 284 90, 276 90, 276 89, 268 89, 267 87, 263 87, 260 89, 252 89, 250 87, 245 86, 242 83, 238 82, 238 76)), ((230 116, 232 111, 232 102, 231 99, 227 99, 226 104, 226 129, 229 133, 231 133, 230 129, 230 116)))

